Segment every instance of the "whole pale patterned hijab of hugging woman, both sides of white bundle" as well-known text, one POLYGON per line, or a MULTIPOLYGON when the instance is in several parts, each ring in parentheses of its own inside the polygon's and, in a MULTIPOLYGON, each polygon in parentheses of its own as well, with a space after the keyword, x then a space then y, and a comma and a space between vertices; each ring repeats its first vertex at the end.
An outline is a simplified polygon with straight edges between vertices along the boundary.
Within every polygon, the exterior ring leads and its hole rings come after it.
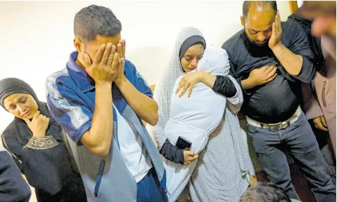
MULTIPOLYGON (((147 124, 146 128, 151 136, 155 137, 155 141, 158 142, 159 150, 161 149, 161 147, 163 147, 163 144, 167 139, 167 136, 164 133, 164 128, 167 121, 170 119, 171 96, 172 90, 174 88, 174 83, 179 78, 179 76, 184 74, 182 65, 179 60, 179 51, 182 47, 182 43, 184 43, 186 39, 194 35, 203 36, 199 29, 196 29, 194 27, 184 27, 182 29, 174 44, 170 62, 155 85, 153 98, 158 103, 159 119, 156 126, 151 126, 147 124)), ((255 171, 253 168, 253 164, 250 161, 248 148, 243 147, 243 145, 246 143, 243 140, 243 136, 241 135, 239 119, 236 116, 236 113, 239 112, 241 104, 243 102, 243 95, 239 83, 237 83, 236 80, 230 75, 229 79, 233 81, 234 86, 236 86, 237 90, 234 97, 227 97, 227 106, 231 110, 228 110, 228 113, 226 114, 227 119, 231 119, 230 123, 233 124, 233 126, 230 127, 230 130, 234 141, 234 149, 236 151, 236 156, 234 158, 239 161, 241 175, 246 176, 249 180, 249 177, 246 174, 250 173, 250 175, 255 175, 255 171)), ((224 130, 224 128, 222 128, 221 131, 217 131, 215 133, 223 133, 222 130, 224 130)))

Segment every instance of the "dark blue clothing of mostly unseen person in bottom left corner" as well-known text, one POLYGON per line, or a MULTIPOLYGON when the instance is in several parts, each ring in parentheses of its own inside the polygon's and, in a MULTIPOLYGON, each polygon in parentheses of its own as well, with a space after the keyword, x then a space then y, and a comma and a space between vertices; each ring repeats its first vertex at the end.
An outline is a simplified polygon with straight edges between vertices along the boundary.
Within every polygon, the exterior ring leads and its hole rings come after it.
POLYGON ((30 187, 8 152, 0 152, 0 198, 3 202, 30 200, 30 187))

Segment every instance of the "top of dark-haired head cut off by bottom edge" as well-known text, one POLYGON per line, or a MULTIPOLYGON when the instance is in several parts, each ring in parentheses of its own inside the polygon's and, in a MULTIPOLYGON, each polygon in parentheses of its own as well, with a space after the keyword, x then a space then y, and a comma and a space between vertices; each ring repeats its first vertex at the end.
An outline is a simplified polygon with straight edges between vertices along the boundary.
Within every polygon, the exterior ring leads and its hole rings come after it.
POLYGON ((242 194, 240 202, 291 202, 291 200, 284 190, 275 184, 257 183, 242 194))

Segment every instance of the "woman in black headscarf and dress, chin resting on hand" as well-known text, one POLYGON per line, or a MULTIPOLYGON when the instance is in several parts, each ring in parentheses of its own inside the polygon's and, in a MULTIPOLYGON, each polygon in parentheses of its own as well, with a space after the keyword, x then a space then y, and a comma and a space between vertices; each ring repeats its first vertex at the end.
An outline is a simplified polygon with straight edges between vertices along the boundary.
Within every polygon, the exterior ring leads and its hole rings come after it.
POLYGON ((87 201, 63 130, 46 103, 24 81, 8 78, 0 81, 0 105, 15 116, 1 140, 35 188, 37 201, 87 201))

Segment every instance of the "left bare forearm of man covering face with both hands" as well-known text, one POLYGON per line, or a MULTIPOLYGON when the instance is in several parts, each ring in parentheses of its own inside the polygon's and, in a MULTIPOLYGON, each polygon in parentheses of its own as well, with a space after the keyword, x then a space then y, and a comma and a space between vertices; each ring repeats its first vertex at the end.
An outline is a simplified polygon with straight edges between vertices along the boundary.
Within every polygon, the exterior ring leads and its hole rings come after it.
POLYGON ((113 137, 113 96, 111 84, 96 83, 95 109, 88 134, 82 143, 94 154, 106 156, 113 137))

